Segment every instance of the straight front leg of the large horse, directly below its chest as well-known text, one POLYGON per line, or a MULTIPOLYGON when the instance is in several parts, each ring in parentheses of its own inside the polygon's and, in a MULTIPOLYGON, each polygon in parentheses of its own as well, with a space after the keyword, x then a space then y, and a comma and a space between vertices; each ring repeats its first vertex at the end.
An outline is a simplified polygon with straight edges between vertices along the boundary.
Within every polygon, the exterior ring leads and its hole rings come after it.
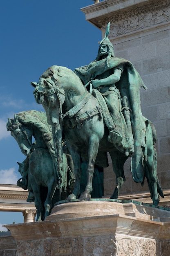
POLYGON ((93 173, 94 173, 94 164, 96 161, 96 156, 98 153, 98 145, 99 141, 97 138, 91 137, 89 140, 89 154, 88 154, 88 165, 87 165, 87 184, 85 187, 85 191, 81 193, 81 200, 89 200, 91 198, 91 193, 93 191, 92 181, 93 181, 93 173))

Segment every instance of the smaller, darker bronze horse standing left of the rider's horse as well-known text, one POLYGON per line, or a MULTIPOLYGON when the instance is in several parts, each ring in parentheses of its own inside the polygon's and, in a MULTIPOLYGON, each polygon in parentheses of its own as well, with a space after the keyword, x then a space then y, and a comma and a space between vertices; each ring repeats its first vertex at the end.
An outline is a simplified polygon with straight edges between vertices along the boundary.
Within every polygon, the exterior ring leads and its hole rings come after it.
POLYGON ((22 181, 19 179, 17 185, 29 190, 27 201, 35 202, 36 221, 44 220, 51 213, 55 202, 65 200, 72 193, 74 173, 68 168, 67 156, 64 154, 63 173, 60 174, 62 184, 56 188, 59 179, 56 172, 57 160, 51 126, 47 124, 44 112, 20 112, 14 119, 8 119, 7 130, 11 131, 21 152, 27 156, 24 162, 18 163, 22 181), (34 143, 32 137, 35 139, 34 143))

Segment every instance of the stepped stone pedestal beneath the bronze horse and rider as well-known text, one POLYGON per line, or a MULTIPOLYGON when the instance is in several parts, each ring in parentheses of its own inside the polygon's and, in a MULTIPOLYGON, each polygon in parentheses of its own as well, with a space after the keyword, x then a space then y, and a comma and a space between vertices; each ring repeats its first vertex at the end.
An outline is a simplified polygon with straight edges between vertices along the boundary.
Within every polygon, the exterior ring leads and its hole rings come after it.
POLYGON ((43 222, 5 227, 16 256, 169 255, 170 210, 136 201, 59 202, 43 222))

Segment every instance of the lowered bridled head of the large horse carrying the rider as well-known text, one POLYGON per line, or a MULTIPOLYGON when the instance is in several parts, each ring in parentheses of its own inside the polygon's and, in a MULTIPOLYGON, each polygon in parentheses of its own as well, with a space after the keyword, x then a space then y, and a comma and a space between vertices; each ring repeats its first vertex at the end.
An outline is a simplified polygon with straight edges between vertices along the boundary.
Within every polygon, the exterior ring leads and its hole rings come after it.
POLYGON ((59 88, 63 74, 60 67, 52 66, 46 70, 39 79, 38 83, 31 82, 35 88, 34 97, 38 104, 42 104, 47 115, 48 124, 58 127, 60 120, 63 119, 62 106, 65 101, 65 92, 59 88))

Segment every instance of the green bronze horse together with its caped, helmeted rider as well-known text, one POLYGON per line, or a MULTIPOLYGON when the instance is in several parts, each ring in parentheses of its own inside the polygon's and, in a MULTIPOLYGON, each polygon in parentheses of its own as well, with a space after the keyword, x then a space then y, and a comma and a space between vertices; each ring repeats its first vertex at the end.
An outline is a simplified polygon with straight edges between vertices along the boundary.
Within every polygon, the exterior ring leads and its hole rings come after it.
MULTIPOLYGON (((118 198, 125 182, 123 164, 130 156, 134 181, 143 185, 146 177, 153 203, 158 205, 163 191, 157 177, 156 131, 143 117, 140 103, 139 91, 147 88, 132 63, 114 56, 109 29, 110 24, 94 61, 74 72, 66 67, 49 67, 38 83, 31 83, 34 97, 45 108, 53 127, 58 163, 63 157, 63 134, 72 155, 76 183, 67 200, 91 198, 94 165, 108 166, 109 152, 116 174, 111 198, 118 198), (82 162, 87 163, 83 192, 82 162)), ((58 164, 61 172, 62 165, 58 164)))

